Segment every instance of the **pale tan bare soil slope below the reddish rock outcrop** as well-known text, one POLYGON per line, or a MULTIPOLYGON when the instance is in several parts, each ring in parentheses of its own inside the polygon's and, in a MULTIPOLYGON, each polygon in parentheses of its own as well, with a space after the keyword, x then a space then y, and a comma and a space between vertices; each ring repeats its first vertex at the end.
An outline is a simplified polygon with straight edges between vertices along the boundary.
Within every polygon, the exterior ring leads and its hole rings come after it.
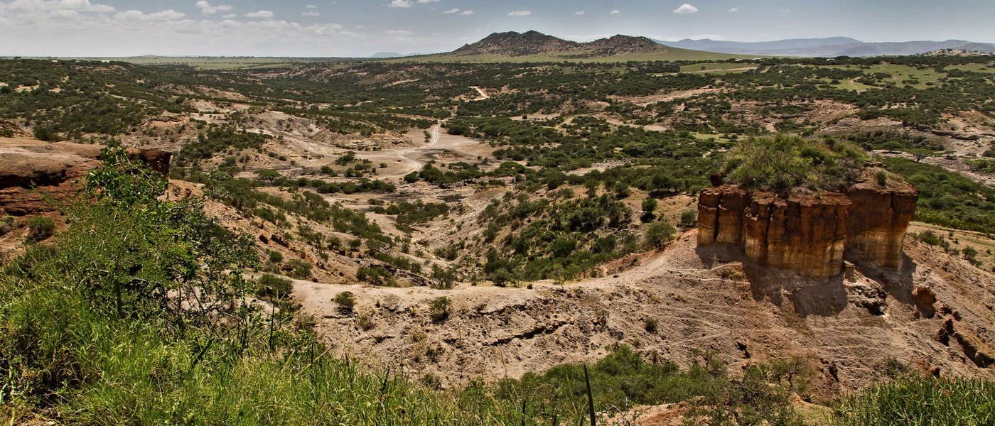
POLYGON ((854 282, 810 280, 756 267, 732 249, 696 245, 695 231, 687 231, 629 270, 564 285, 433 290, 298 281, 295 293, 334 352, 401 363, 447 385, 591 362, 616 345, 685 366, 710 353, 733 371, 801 356, 816 370, 822 396, 881 378, 891 358, 941 374, 995 376, 956 340, 936 339, 949 317, 959 318, 958 331, 995 342, 995 276, 962 259, 906 240, 899 271, 858 268, 854 282), (936 295, 933 306, 915 302, 916 286, 936 295), (356 295, 354 313, 332 302, 343 291, 356 295), (433 322, 429 302, 439 297, 450 299, 452 312, 433 322), (881 312, 868 308, 875 302, 881 312), (361 330, 360 317, 373 328, 361 330), (658 322, 656 333, 647 331, 649 319, 658 322))

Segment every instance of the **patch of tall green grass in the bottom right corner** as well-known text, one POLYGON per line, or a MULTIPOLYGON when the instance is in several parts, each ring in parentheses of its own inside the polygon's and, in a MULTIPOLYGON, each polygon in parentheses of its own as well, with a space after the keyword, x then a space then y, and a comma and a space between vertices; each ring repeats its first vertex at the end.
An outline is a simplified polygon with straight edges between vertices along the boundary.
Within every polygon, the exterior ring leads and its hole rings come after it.
POLYGON ((995 386, 981 378, 909 376, 871 386, 837 407, 838 426, 995 424, 995 386))

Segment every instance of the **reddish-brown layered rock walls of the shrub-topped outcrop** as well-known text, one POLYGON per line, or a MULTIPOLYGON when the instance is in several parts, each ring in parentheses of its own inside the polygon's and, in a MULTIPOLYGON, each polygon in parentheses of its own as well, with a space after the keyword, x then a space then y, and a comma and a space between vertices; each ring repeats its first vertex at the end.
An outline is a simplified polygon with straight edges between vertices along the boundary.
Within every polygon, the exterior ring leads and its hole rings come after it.
POLYGON ((698 198, 697 243, 735 244, 757 264, 813 278, 839 274, 844 254, 895 269, 917 200, 904 183, 791 196, 721 185, 698 198))

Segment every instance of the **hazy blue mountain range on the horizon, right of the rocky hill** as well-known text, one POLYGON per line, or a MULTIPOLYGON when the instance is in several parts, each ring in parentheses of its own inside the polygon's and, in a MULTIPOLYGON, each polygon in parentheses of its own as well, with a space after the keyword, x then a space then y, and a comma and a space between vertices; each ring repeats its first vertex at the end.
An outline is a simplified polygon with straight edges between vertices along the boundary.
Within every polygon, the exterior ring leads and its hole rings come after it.
POLYGON ((941 50, 995 53, 995 45, 989 43, 947 40, 944 42, 894 42, 865 43, 847 37, 825 39, 789 39, 774 42, 724 42, 717 40, 691 40, 666 42, 655 40, 664 46, 691 49, 705 52, 718 52, 736 55, 756 55, 771 57, 877 57, 920 55, 941 50))

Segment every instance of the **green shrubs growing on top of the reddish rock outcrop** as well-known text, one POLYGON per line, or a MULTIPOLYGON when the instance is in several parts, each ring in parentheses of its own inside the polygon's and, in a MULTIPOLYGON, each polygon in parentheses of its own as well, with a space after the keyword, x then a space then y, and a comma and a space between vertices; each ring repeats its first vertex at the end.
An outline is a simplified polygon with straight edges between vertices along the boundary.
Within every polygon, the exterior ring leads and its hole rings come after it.
POLYGON ((755 190, 838 190, 863 176, 870 157, 860 148, 831 137, 778 134, 753 137, 725 155, 725 182, 755 190))

